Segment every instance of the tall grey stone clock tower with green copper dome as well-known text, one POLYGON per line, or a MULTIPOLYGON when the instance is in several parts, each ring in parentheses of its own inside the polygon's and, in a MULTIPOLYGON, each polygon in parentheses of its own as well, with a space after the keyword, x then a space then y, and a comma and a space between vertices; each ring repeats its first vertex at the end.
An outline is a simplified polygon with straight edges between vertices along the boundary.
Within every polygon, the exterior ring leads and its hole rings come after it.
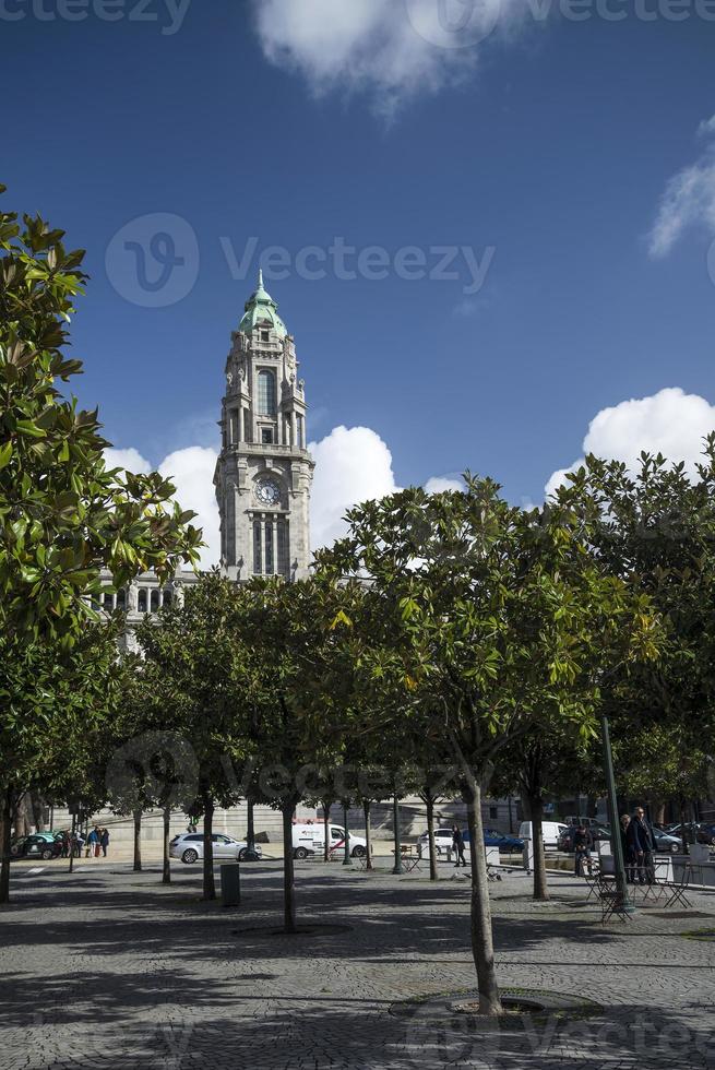
POLYGON ((259 272, 226 360, 214 485, 222 568, 231 580, 308 575, 314 462, 296 346, 277 309, 259 272))

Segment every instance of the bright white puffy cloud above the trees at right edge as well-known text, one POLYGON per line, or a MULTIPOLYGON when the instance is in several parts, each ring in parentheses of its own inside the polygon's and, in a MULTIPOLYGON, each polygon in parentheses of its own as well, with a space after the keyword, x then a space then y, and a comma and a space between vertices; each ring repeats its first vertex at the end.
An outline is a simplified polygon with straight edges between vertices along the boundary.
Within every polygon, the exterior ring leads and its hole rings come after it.
MULTIPOLYGON (((668 461, 684 461, 694 473, 703 439, 715 430, 715 405, 699 394, 687 394, 679 387, 659 390, 648 397, 631 399, 601 411, 592 419, 583 441, 584 453, 637 466, 639 454, 663 453, 668 461)), ((552 494, 565 482, 567 472, 583 464, 583 457, 569 468, 560 468, 546 485, 552 494)))

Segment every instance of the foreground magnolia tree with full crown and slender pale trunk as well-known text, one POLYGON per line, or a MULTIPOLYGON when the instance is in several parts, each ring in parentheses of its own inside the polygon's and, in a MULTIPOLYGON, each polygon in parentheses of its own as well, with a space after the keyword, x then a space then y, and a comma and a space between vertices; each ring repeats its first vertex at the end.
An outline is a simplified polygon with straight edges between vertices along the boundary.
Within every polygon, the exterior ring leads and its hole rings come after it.
MULTIPOLYGON (((458 765, 470 842, 480 844, 481 798, 504 748, 553 718, 592 734, 594 658, 625 621, 647 646, 652 622, 645 604, 634 614, 622 584, 595 564, 573 510, 525 513, 491 480, 465 483, 464 491, 409 489, 351 510, 347 537, 319 554, 319 569, 372 584, 382 623, 373 618, 360 634, 366 709, 380 708, 369 701, 373 683, 378 692, 385 678, 402 687, 426 764, 446 742, 458 765), (574 693, 585 665, 591 686, 574 693)), ((486 857, 470 854, 479 1008, 498 1014, 486 857)))

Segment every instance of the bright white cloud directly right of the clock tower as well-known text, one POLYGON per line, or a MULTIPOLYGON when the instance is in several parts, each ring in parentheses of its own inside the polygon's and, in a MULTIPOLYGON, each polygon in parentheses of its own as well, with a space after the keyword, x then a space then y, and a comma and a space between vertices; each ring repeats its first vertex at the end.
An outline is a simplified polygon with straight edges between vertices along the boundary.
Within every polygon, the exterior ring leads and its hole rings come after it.
POLYGON ((351 506, 400 488, 392 471, 392 453, 369 427, 334 427, 308 449, 315 461, 310 542, 318 549, 345 534, 343 516, 351 506))

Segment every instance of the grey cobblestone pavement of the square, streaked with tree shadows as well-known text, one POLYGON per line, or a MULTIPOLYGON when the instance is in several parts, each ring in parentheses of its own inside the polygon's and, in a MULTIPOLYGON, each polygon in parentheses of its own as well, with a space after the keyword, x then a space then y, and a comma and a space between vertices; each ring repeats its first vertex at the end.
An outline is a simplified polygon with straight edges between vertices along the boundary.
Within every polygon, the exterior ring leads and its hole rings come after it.
POLYGON ((242 868, 238 910, 201 903, 195 868, 163 887, 156 869, 56 865, 16 866, 0 914, 0 1070, 715 1068, 715 943, 681 936, 715 928, 715 894, 603 927, 573 878, 535 904, 505 877, 501 984, 604 1012, 475 1023, 420 1001, 474 986, 466 882, 299 865, 300 922, 317 927, 289 938, 273 931, 276 863, 242 868))

